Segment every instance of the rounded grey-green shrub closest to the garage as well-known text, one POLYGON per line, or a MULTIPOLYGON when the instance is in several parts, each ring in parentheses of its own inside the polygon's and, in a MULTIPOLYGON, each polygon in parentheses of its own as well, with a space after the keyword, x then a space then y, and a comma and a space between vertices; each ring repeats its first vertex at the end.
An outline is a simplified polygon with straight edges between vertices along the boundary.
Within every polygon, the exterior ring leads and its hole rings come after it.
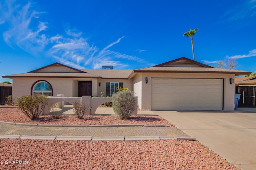
POLYGON ((130 90, 123 90, 114 94, 112 99, 112 106, 114 112, 120 119, 128 119, 134 111, 135 98, 130 90))

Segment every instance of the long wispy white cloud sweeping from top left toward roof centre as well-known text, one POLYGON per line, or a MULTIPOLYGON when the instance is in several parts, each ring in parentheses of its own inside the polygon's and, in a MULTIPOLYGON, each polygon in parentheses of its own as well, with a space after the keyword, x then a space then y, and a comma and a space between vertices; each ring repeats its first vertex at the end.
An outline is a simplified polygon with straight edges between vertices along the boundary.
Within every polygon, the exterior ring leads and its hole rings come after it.
MULTIPOLYGON (((20 48, 35 56, 54 57, 56 61, 74 66, 75 68, 101 68, 102 65, 114 65, 115 68, 128 67, 127 61, 153 65, 136 56, 111 51, 110 47, 120 43, 124 36, 110 43, 104 49, 90 45, 82 32, 76 29, 65 29, 65 35, 48 34, 51 23, 40 21, 44 12, 34 9, 32 3, 24 6, 6 1, 0 4, 3 17, 0 24, 8 23, 3 33, 4 41, 12 48, 20 48)), ((141 50, 144 51, 144 50, 141 50)), ((140 52, 141 52, 140 51, 140 52)))

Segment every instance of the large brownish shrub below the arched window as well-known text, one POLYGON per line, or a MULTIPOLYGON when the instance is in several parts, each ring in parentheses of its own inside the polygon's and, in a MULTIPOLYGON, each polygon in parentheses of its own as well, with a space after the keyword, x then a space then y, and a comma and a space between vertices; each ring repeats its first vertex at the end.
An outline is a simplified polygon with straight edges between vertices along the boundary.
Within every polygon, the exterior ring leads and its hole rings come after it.
POLYGON ((31 120, 38 119, 44 107, 49 102, 46 96, 21 96, 17 99, 17 106, 21 111, 28 116, 31 120))

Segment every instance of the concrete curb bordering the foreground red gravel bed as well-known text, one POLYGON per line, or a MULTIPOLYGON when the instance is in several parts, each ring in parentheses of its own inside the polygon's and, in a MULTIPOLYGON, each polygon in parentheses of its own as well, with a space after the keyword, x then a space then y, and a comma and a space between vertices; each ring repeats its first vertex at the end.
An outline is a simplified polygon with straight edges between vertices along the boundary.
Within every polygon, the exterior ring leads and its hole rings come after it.
POLYGON ((28 136, 28 135, 0 135, 4 139, 38 139, 38 140, 66 140, 66 141, 151 141, 151 140, 196 140, 191 137, 172 136, 134 136, 134 137, 91 137, 91 136, 28 136))

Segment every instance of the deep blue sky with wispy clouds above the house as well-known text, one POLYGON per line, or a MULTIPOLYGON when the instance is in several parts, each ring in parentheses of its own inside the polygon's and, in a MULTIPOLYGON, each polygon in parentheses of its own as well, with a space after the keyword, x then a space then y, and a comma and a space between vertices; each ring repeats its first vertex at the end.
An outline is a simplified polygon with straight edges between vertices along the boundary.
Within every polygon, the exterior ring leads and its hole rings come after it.
MULTIPOLYGON (((0 76, 59 62, 137 69, 180 57, 256 71, 256 0, 0 0, 0 76)), ((2 81, 11 79, 0 78, 2 81)))

